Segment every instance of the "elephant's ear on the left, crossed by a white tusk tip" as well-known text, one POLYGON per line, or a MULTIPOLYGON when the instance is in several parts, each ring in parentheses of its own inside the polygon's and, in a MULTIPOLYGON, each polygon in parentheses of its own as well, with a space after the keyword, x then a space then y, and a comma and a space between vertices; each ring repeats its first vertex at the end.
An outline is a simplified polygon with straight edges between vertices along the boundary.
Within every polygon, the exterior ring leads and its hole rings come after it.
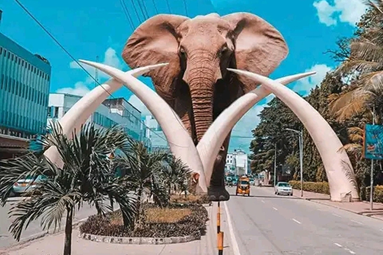
POLYGON ((173 83, 181 71, 176 29, 187 19, 180 15, 153 16, 137 27, 122 52, 122 58, 132 69, 169 63, 145 74, 152 78, 157 93, 168 103, 173 100, 173 83))

